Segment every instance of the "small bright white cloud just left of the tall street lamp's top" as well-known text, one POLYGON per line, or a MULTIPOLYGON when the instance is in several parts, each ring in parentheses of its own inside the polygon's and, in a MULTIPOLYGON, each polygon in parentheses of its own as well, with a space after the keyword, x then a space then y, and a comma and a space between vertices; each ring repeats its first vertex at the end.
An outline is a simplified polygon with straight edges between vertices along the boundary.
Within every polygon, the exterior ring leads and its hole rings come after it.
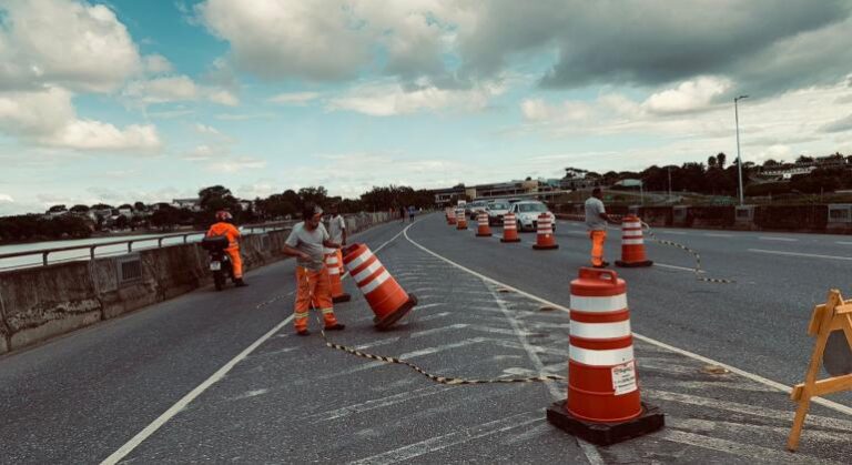
POLYGON ((657 92, 642 103, 652 113, 687 113, 706 110, 716 97, 731 88, 724 78, 701 77, 681 82, 676 89, 657 92))

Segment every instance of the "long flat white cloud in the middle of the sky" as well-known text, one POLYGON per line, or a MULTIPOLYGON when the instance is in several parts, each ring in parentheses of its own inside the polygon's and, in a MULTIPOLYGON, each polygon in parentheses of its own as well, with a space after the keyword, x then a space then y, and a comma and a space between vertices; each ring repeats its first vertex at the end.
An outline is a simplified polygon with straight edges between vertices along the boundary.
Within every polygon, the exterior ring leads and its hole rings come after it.
POLYGON ((424 85, 408 91, 400 84, 378 83, 362 85, 347 94, 328 101, 332 110, 349 110, 372 117, 390 117, 419 111, 456 109, 477 111, 484 109, 490 99, 503 93, 497 84, 483 84, 469 90, 438 89, 424 85))

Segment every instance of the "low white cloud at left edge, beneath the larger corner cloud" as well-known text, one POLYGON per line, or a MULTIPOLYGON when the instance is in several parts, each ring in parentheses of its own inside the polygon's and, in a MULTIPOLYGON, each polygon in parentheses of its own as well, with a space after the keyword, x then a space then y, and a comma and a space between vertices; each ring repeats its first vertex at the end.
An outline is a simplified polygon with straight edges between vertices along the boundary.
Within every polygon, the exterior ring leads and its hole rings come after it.
POLYGON ((52 88, 40 92, 0 92, 0 132, 40 145, 73 150, 156 151, 153 125, 113 124, 79 119, 71 93, 52 88))

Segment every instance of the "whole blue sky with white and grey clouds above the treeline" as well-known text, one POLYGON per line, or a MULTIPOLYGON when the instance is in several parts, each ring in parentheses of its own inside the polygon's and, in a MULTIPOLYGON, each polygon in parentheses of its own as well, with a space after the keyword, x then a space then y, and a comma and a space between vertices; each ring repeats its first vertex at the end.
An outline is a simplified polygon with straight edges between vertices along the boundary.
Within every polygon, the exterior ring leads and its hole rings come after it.
POLYGON ((852 153, 852 1, 0 0, 0 214, 852 153))

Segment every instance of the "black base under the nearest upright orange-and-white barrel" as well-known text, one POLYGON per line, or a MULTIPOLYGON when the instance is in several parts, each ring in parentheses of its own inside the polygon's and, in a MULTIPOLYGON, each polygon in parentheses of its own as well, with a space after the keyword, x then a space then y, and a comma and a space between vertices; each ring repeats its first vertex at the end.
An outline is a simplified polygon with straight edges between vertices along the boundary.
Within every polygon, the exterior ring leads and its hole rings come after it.
POLYGON ((653 433, 666 425, 666 416, 659 408, 642 403, 642 412, 636 418, 618 423, 590 422, 571 415, 567 402, 547 407, 547 421, 554 426, 586 442, 608 446, 633 437, 653 433))

